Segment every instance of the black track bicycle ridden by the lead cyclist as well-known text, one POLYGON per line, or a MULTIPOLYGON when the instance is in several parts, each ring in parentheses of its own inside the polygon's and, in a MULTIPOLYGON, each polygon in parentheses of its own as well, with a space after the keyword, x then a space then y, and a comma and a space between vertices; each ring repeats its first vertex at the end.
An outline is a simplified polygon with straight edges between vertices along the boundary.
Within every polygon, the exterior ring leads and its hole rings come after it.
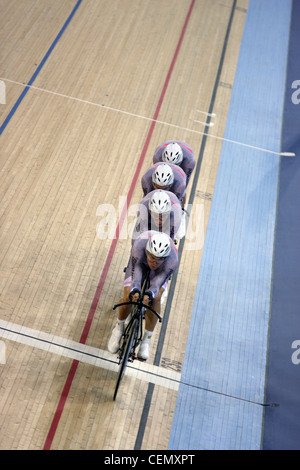
POLYGON ((128 324, 125 326, 124 333, 121 337, 120 349, 118 354, 118 362, 119 362, 119 371, 117 377, 116 388, 114 392, 114 400, 117 397, 117 393, 119 390, 119 386, 121 380, 123 378, 126 366, 128 362, 133 362, 136 359, 135 351, 143 338, 143 318, 145 310, 151 310, 157 318, 159 322, 162 321, 161 316, 151 308, 151 306, 146 305, 143 303, 145 292, 147 291, 150 285, 150 269, 147 270, 147 273, 144 277, 142 283, 141 294, 137 302, 129 301, 129 302, 122 302, 120 304, 116 304, 113 307, 115 310, 117 307, 121 305, 132 305, 131 312, 129 314, 130 320, 128 324))

